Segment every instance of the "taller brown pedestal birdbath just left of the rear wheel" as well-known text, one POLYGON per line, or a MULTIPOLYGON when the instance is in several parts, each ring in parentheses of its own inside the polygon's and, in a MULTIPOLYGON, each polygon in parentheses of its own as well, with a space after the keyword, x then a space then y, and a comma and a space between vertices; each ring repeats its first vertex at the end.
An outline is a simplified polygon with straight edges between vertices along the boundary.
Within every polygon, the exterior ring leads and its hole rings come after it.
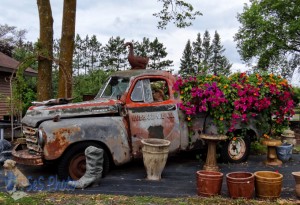
POLYGON ((208 146, 206 161, 203 169, 206 171, 219 171, 219 166, 217 165, 216 145, 219 141, 226 140, 227 136, 202 134, 200 135, 200 138, 204 139, 208 146))

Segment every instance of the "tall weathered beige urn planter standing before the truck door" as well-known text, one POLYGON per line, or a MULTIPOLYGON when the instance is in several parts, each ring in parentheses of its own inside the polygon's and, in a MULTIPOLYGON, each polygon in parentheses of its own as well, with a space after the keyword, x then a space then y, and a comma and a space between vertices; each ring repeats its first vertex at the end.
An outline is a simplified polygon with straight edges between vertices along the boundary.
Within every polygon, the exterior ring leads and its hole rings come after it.
POLYGON ((147 172, 147 179, 160 180, 165 168, 170 141, 164 139, 143 139, 143 161, 147 172))

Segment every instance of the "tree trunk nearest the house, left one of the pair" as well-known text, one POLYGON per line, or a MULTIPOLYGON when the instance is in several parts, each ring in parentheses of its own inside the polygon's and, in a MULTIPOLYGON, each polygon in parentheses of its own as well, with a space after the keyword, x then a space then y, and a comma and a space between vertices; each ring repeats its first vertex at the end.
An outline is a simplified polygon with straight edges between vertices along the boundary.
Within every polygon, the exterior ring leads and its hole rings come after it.
POLYGON ((47 100, 52 95, 53 18, 49 0, 37 0, 40 19, 39 45, 44 57, 38 58, 37 99, 47 100))

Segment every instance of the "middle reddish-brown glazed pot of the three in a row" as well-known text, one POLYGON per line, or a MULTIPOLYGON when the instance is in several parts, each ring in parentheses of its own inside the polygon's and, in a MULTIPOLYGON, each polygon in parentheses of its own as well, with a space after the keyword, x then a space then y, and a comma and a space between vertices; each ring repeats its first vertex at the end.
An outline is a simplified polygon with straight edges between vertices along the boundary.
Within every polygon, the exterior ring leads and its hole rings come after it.
POLYGON ((231 198, 250 199, 254 193, 254 174, 250 172, 231 172, 226 174, 228 194, 231 198))

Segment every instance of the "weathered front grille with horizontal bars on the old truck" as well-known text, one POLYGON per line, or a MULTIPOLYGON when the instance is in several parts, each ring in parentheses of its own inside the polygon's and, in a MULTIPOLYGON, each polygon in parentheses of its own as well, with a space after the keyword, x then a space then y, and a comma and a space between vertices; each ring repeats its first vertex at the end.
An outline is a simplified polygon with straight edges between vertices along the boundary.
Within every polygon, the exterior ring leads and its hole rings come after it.
POLYGON ((23 135, 26 138, 26 145, 29 153, 40 154, 42 152, 42 148, 38 144, 38 129, 23 126, 23 135))

